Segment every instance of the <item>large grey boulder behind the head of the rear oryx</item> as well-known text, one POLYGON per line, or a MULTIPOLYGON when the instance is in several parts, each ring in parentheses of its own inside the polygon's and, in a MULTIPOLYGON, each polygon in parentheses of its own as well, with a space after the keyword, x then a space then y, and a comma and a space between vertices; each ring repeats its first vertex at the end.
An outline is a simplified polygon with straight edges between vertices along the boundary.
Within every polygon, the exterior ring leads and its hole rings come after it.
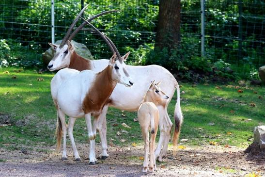
MULTIPOLYGON (((56 41, 55 44, 59 45, 59 44, 61 44, 61 42, 62 42, 62 40, 59 40, 59 41, 56 41)), ((91 52, 89 51, 89 49, 84 44, 78 43, 74 40, 72 40, 71 43, 75 46, 75 50, 80 56, 82 56, 83 58, 88 59, 88 60, 94 60, 91 52)), ((42 54, 43 63, 45 65, 48 65, 50 60, 54 56, 54 54, 55 54, 55 51, 51 47, 49 49, 47 49, 42 54)))

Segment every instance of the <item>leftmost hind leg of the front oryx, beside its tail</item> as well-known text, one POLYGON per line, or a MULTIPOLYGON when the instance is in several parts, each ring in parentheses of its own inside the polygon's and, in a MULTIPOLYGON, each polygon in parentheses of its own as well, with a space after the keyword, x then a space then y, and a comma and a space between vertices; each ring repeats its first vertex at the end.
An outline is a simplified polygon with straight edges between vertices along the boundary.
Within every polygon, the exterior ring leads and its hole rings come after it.
POLYGON ((66 134, 67 134, 67 125, 65 123, 65 114, 58 109, 57 113, 60 117, 61 123, 62 123, 62 134, 63 134, 63 145, 62 145, 62 161, 67 160, 67 153, 66 153, 66 134))

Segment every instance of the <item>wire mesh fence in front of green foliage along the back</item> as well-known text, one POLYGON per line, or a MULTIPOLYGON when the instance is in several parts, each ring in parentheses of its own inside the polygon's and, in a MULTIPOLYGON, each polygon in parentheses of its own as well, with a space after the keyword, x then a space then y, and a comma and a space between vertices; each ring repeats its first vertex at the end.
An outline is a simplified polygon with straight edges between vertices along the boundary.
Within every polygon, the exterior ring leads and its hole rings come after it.
MULTIPOLYGON (((51 42, 50 0, 0 0, 1 58, 21 64, 41 64, 41 53, 51 42), (9 49, 8 49, 8 47, 9 49)), ((132 51, 131 64, 153 49, 159 0, 89 0, 85 17, 120 9, 93 20, 121 54, 132 51)), ((201 55, 200 0, 182 0, 181 37, 190 55, 201 55), (188 41, 188 42, 187 42, 188 41), (189 44, 192 44, 189 46, 189 44)), ((205 57, 253 66, 265 64, 265 3, 263 0, 205 0, 205 57)), ((55 0, 55 40, 61 40, 81 8, 80 0, 55 0)), ((81 20, 78 21, 79 25, 81 20)), ((85 44, 95 59, 109 58, 104 42, 89 32, 74 38, 85 44)), ((190 56, 192 59, 192 56, 190 56)), ((7 61, 8 62, 8 61, 7 61)))

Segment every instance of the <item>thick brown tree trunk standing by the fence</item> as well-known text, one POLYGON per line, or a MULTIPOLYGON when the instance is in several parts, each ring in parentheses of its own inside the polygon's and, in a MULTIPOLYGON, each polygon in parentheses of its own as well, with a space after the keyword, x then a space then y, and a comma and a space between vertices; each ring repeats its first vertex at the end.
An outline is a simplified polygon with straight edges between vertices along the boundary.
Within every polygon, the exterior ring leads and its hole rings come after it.
POLYGON ((159 0, 156 48, 171 49, 180 41, 180 0, 159 0))

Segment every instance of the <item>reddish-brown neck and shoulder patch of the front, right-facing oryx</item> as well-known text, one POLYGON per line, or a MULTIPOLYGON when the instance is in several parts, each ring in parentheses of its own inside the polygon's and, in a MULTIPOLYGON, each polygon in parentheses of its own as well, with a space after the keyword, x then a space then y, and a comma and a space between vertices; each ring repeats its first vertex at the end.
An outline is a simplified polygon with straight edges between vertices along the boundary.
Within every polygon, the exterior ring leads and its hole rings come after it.
POLYGON ((109 100, 109 96, 117 84, 116 81, 111 79, 112 67, 108 65, 103 71, 96 74, 94 82, 83 101, 83 111, 85 113, 93 113, 94 115, 101 113, 104 105, 109 100))

